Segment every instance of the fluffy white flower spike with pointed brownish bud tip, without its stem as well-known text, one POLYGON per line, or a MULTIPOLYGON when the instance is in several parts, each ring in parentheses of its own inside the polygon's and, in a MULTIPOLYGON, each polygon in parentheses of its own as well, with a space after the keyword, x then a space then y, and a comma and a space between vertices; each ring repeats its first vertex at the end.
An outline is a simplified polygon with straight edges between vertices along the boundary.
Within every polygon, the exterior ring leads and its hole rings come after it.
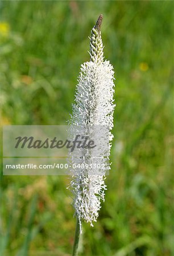
POLYGON ((92 29, 90 61, 81 65, 71 117, 73 136, 79 133, 80 127, 82 134, 90 134, 90 138, 94 139, 97 148, 80 148, 69 152, 71 163, 84 164, 84 166, 93 163, 100 164, 100 166, 105 164, 105 170, 102 170, 101 173, 99 172, 100 168, 98 168, 98 172, 96 170, 92 172, 86 167, 81 170, 73 170, 71 181, 74 194, 73 206, 80 224, 81 220, 85 220, 92 226, 92 222, 97 221, 101 200, 104 200, 105 196, 105 172, 110 169, 108 160, 110 141, 113 139, 110 130, 113 128, 115 106, 113 104, 114 71, 109 61, 103 61, 101 20, 100 16, 98 23, 92 29))

